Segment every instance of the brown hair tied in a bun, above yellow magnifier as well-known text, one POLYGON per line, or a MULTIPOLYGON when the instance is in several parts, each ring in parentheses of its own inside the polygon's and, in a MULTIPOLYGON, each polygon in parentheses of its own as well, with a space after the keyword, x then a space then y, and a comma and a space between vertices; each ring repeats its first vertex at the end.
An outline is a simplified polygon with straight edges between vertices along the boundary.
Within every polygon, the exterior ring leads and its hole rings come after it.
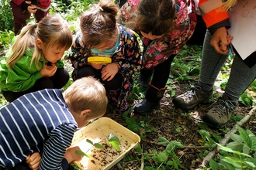
POLYGON ((89 46, 98 46, 116 35, 118 6, 112 0, 100 0, 88 8, 80 18, 83 40, 89 46))

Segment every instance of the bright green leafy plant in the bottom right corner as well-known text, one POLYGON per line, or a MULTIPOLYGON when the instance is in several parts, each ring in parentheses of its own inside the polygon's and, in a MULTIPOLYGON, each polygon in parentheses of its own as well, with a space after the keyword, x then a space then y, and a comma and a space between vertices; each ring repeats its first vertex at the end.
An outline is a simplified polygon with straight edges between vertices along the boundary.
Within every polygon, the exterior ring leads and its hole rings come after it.
POLYGON ((220 158, 209 161, 213 170, 256 169, 256 136, 250 130, 238 127, 239 134, 230 134, 233 140, 220 147, 220 158))

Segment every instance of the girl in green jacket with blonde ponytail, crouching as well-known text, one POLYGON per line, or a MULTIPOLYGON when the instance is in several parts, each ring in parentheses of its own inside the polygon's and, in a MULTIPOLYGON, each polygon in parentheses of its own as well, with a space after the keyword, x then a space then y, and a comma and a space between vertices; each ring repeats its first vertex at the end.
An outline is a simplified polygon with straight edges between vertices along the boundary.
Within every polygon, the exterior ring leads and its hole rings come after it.
POLYGON ((69 73, 61 58, 72 41, 71 30, 59 15, 23 27, 0 62, 0 88, 5 99, 12 102, 25 93, 64 87, 69 73))

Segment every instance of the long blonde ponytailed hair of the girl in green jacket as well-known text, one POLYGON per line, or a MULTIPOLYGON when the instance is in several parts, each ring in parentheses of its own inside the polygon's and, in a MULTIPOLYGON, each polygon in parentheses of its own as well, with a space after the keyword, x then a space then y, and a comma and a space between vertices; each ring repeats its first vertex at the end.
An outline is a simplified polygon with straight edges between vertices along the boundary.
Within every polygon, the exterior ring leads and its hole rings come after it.
MULTIPOLYGON (((69 49, 72 44, 72 32, 67 22, 60 15, 49 15, 38 24, 29 22, 24 26, 12 45, 11 56, 6 61, 6 66, 11 69, 17 61, 26 53, 26 50, 34 49, 30 65, 34 62, 36 67, 43 57, 42 49, 36 47, 36 39, 43 42, 42 48, 57 45, 57 48, 69 49)), ((44 58, 43 58, 44 61, 44 58)))

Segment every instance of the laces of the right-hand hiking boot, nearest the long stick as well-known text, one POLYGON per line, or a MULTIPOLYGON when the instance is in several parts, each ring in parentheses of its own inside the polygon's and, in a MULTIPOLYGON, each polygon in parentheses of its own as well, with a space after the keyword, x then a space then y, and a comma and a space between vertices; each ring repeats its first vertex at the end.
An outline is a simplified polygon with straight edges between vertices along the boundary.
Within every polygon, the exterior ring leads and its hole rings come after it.
POLYGON ((215 111, 218 117, 223 117, 225 114, 230 117, 235 110, 235 106, 230 100, 218 100, 216 106, 214 107, 213 111, 215 111))

